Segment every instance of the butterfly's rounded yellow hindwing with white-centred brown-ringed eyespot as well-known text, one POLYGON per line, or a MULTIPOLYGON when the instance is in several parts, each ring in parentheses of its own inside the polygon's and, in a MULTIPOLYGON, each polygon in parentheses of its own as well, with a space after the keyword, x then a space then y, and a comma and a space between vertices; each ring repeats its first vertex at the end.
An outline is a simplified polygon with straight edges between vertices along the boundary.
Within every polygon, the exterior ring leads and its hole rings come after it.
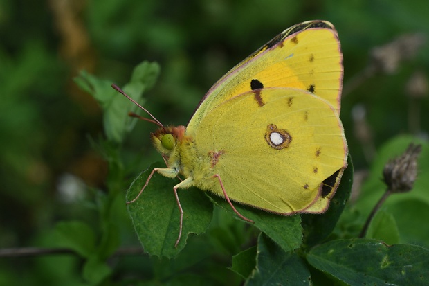
POLYGON ((301 89, 264 88, 232 97, 190 135, 200 161, 209 162, 193 171, 199 188, 223 196, 211 177, 219 174, 230 199, 275 213, 311 208, 323 181, 347 162, 336 108, 301 89))

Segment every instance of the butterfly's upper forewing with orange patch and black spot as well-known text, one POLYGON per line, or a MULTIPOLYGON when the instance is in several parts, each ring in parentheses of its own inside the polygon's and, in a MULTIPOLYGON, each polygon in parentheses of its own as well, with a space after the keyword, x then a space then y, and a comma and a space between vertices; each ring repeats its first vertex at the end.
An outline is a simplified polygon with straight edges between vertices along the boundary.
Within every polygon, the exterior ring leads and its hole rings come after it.
POLYGON ((188 128, 225 100, 261 87, 310 91, 339 114, 342 82, 343 55, 334 26, 307 21, 284 30, 226 73, 201 100, 188 128), (252 86, 252 80, 259 84, 252 86))

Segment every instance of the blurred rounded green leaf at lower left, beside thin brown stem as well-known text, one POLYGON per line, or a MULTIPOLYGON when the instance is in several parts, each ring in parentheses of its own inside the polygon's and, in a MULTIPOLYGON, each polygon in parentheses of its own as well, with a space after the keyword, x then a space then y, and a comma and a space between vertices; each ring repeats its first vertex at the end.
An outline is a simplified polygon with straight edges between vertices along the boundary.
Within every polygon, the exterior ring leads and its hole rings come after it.
POLYGON ((55 226, 57 244, 68 247, 88 258, 95 252, 95 233, 91 227, 80 221, 59 222, 55 226))

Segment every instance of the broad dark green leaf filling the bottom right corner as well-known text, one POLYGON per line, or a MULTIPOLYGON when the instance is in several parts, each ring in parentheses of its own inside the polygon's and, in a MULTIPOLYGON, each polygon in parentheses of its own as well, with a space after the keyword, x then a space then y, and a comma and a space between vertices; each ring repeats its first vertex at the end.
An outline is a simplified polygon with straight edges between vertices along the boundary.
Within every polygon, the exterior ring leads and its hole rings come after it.
POLYGON ((369 239, 334 240, 311 249, 307 261, 349 285, 425 285, 429 251, 369 239))

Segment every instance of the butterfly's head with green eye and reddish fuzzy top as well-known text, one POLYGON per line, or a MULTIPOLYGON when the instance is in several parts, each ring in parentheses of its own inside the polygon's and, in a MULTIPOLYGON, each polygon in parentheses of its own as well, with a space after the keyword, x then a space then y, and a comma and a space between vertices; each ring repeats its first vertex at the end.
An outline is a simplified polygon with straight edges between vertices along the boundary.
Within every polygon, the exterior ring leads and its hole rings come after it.
POLYGON ((156 132, 151 133, 150 137, 156 150, 163 155, 169 156, 176 148, 176 145, 185 138, 185 126, 161 127, 156 132))

